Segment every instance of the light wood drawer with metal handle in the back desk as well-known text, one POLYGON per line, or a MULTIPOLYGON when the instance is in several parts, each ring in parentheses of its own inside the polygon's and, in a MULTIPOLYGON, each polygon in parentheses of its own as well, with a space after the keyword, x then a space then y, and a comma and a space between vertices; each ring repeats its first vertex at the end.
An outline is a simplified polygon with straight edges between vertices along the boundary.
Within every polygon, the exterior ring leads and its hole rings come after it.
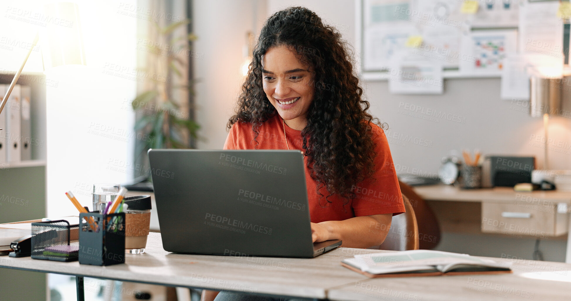
POLYGON ((557 213, 555 204, 482 203, 484 233, 519 234, 549 238, 567 233, 566 213, 557 213))

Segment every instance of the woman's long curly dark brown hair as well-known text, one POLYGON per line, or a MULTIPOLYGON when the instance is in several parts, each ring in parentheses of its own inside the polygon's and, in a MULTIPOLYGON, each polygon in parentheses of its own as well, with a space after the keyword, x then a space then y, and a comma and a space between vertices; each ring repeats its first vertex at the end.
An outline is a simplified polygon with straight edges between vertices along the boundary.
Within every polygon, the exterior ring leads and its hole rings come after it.
POLYGON ((296 51, 300 61, 313 70, 316 89, 301 136, 307 167, 318 183, 317 193, 323 196, 319 190, 325 187, 329 195, 340 195, 345 205, 355 198, 353 186, 372 177, 376 153, 371 122, 380 124, 367 113, 369 102, 361 98, 363 89, 353 74, 347 42, 313 11, 289 7, 267 19, 228 129, 236 122, 251 123, 258 137, 260 125, 277 114, 263 90, 262 55, 282 45, 296 51))

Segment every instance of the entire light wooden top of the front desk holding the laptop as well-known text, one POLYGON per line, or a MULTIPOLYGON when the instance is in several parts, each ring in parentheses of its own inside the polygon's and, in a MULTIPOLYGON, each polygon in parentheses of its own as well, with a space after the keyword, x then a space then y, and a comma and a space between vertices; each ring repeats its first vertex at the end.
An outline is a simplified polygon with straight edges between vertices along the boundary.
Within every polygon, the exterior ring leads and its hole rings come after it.
POLYGON ((369 279, 340 265, 341 259, 373 252, 386 251, 338 248, 313 259, 172 254, 163 250, 160 234, 151 232, 147 253, 127 255, 126 264, 99 267, 2 256, 0 267, 329 300, 521 300, 532 299, 532 294, 533 300, 569 300, 571 296, 571 264, 566 263, 493 258, 514 273, 383 279, 369 279))

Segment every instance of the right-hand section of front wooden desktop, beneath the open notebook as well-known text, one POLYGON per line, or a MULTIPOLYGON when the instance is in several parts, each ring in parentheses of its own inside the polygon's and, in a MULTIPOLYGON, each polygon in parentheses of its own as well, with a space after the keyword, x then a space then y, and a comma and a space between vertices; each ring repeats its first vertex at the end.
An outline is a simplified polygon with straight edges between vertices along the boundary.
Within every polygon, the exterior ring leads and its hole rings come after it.
POLYGON ((376 278, 329 290, 340 301, 570 300, 571 264, 493 258, 513 274, 376 278))

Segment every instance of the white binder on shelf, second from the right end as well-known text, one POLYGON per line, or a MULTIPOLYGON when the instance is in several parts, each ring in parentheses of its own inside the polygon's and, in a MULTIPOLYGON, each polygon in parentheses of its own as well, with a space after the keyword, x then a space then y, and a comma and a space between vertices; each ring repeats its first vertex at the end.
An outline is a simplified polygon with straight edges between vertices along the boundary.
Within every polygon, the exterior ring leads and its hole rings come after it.
POLYGON ((15 85, 4 108, 6 111, 6 160, 8 163, 20 162, 22 158, 20 145, 22 137, 21 95, 21 86, 15 85))

